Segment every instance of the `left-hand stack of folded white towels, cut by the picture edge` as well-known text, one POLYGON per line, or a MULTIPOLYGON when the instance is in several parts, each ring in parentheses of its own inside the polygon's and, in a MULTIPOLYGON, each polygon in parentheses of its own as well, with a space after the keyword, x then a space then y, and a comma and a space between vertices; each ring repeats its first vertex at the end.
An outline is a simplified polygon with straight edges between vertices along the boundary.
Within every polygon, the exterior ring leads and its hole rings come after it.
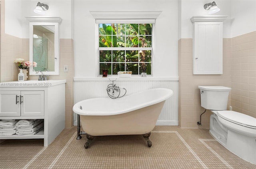
POLYGON ((0 135, 14 135, 18 120, 0 120, 0 135))

